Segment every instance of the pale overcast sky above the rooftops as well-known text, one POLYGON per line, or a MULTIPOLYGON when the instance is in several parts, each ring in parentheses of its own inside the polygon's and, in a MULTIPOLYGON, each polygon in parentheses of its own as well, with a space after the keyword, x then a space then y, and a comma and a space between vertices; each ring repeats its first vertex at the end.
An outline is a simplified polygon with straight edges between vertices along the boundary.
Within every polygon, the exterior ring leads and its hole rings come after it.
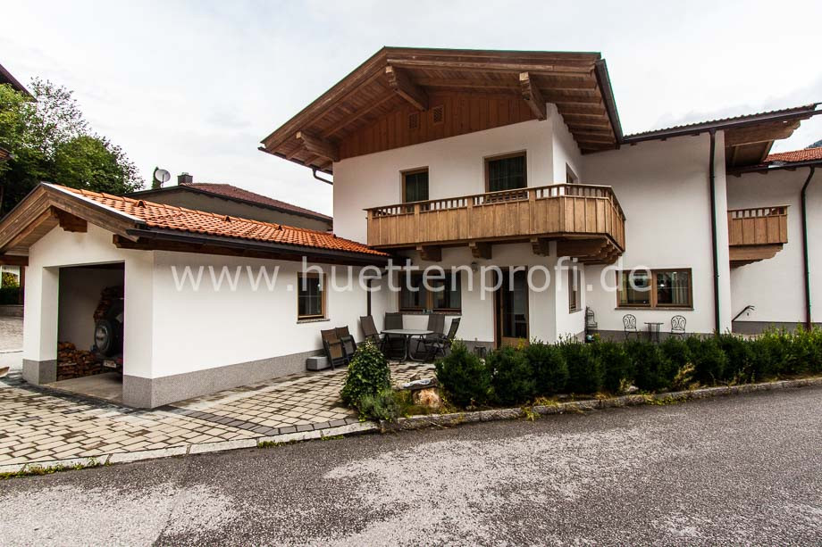
MULTIPOLYGON (((0 63, 74 90, 147 182, 329 214, 331 186, 257 146, 381 46, 599 51, 625 133, 822 101, 822 3, 661 4, 0 0, 0 63)), ((774 150, 820 138, 822 115, 774 150)))

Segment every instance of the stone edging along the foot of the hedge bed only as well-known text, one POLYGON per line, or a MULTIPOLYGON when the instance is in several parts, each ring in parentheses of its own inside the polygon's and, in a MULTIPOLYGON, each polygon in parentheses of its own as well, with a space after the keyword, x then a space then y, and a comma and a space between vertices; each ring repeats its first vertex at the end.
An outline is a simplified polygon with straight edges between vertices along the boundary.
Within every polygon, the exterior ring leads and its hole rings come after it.
MULTIPOLYGON (((801 378, 798 380, 779 380, 763 382, 761 384, 720 385, 718 387, 703 387, 691 391, 678 391, 667 394, 622 395, 608 399, 587 399, 584 401, 558 402, 550 405, 535 405, 531 411, 541 416, 549 414, 564 414, 566 412, 583 412, 585 410, 619 408, 653 404, 655 402, 684 402, 692 399, 706 399, 721 395, 748 394, 759 391, 774 391, 792 387, 806 387, 822 385, 822 377, 801 378)), ((526 407, 529 408, 529 407, 526 407)), ((503 419, 524 418, 526 411, 523 408, 475 410, 471 412, 454 412, 451 414, 428 414, 400 418, 397 422, 380 421, 380 429, 386 431, 400 431, 424 429, 426 427, 449 427, 460 424, 496 421, 503 419)))

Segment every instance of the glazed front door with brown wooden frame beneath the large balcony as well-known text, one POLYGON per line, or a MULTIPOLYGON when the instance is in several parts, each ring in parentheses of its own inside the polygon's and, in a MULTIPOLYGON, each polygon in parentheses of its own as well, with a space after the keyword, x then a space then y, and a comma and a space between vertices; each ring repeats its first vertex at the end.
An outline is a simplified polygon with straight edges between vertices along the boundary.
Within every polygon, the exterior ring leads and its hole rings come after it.
POLYGON ((528 344, 528 274, 502 271, 495 294, 497 346, 528 344))

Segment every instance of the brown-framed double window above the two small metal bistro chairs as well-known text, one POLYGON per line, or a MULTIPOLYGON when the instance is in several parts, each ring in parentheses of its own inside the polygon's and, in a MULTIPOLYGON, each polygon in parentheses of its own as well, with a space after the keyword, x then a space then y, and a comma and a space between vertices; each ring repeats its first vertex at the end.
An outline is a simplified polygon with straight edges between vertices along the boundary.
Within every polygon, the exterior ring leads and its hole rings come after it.
POLYGON ((691 269, 653 269, 617 272, 618 307, 691 308, 691 269))

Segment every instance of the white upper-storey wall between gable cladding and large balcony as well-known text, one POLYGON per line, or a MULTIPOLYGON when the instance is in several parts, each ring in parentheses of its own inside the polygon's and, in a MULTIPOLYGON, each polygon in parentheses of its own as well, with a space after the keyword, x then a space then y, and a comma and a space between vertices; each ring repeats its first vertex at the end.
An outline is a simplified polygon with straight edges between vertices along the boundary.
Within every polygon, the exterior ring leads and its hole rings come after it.
MULTIPOLYGON (((528 186, 553 184, 551 123, 525 121, 334 163, 335 233, 365 243, 363 210, 401 203, 400 172, 405 170, 428 167, 431 199, 482 194, 484 158, 525 150, 528 186)), ((564 174, 559 182, 565 182, 564 174)))

